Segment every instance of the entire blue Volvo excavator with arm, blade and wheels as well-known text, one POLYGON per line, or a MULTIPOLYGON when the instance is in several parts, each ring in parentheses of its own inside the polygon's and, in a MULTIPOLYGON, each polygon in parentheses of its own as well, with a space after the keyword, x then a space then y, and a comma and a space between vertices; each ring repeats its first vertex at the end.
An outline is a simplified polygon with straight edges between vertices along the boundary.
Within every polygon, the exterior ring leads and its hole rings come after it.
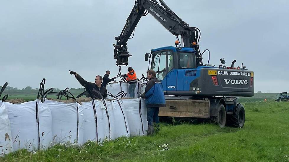
POLYGON ((114 58, 116 65, 127 65, 132 56, 127 51, 127 41, 140 18, 151 14, 171 34, 176 36, 175 46, 152 49, 145 54, 149 69, 155 70, 162 82, 166 97, 166 107, 160 108, 159 116, 175 118, 209 118, 224 127, 230 125, 242 128, 245 123, 245 110, 238 103, 237 96, 254 95, 254 72, 243 66, 226 67, 210 65, 210 51, 202 53, 199 48, 200 30, 190 27, 179 18, 163 0, 137 0, 126 19, 126 24, 118 37, 115 37, 114 58), (181 42, 179 39, 181 36, 181 42), (209 53, 207 64, 202 55, 209 53))

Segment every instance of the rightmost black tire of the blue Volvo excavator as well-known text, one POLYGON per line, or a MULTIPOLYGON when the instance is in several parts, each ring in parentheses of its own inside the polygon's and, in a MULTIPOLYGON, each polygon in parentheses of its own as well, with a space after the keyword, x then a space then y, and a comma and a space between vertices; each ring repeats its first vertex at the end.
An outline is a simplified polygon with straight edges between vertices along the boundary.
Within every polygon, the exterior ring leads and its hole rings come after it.
POLYGON ((245 124, 245 109, 241 103, 238 103, 233 115, 228 115, 227 124, 229 126, 243 128, 245 124))

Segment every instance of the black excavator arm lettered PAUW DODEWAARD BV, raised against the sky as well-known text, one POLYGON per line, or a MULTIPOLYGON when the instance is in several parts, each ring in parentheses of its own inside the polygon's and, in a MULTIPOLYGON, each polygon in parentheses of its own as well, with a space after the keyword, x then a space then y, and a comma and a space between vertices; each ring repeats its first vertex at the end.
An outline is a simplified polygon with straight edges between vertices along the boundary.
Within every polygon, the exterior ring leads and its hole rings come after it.
POLYGON ((196 27, 190 27, 171 11, 163 0, 137 0, 135 2, 129 17, 126 19, 124 29, 121 31, 120 36, 115 37, 116 44, 113 44, 113 46, 115 47, 114 58, 117 59, 116 65, 128 64, 128 57, 132 55, 127 51, 126 42, 130 39, 132 33, 134 35, 134 29, 140 18, 146 16, 148 13, 152 14, 177 39, 181 35, 183 47, 194 48, 197 51, 197 66, 202 66, 202 57, 198 45, 200 30, 196 27))

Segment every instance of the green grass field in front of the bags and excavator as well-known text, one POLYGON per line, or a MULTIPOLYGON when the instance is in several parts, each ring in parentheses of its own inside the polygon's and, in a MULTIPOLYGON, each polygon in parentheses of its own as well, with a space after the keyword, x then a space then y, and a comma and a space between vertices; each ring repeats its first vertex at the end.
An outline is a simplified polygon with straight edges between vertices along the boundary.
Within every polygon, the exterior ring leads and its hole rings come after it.
POLYGON ((244 128, 163 123, 154 136, 119 138, 102 145, 56 145, 35 154, 21 150, 0 161, 288 161, 289 102, 244 102, 244 128), (168 144, 168 150, 159 146, 168 144))

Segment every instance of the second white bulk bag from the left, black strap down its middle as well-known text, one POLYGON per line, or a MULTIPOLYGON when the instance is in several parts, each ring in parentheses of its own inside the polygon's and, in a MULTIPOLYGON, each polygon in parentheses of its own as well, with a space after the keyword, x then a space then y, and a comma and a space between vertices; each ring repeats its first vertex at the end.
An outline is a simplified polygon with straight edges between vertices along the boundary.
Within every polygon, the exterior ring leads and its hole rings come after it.
POLYGON ((46 103, 35 100, 21 104, 4 104, 11 123, 14 151, 22 148, 33 151, 50 145, 51 112, 46 103))

